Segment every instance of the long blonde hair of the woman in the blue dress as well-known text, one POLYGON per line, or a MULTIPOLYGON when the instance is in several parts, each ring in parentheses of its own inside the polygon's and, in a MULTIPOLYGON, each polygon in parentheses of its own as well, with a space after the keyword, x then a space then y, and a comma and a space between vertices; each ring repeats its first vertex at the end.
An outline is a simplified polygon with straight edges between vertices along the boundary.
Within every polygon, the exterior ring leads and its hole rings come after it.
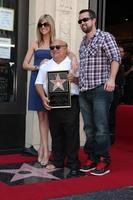
MULTIPOLYGON (((39 20, 38 20, 38 24, 39 23, 42 23, 42 21, 46 20, 49 25, 50 25, 50 43, 53 42, 53 40, 55 39, 55 22, 54 22, 54 19, 52 18, 51 15, 48 15, 48 14, 45 14, 45 15, 42 15, 39 20)), ((42 35, 39 31, 39 27, 38 27, 38 24, 37 24, 37 40, 38 42, 40 43, 42 41, 42 35)))

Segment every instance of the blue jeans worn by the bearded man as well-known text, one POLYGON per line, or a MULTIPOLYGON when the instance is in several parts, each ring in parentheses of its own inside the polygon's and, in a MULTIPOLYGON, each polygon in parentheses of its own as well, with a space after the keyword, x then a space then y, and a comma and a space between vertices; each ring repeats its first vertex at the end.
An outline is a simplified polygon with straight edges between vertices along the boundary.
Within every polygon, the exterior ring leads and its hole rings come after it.
POLYGON ((79 102, 87 139, 87 153, 91 160, 98 162, 104 157, 110 163, 109 109, 113 92, 104 90, 104 85, 80 92, 79 102))

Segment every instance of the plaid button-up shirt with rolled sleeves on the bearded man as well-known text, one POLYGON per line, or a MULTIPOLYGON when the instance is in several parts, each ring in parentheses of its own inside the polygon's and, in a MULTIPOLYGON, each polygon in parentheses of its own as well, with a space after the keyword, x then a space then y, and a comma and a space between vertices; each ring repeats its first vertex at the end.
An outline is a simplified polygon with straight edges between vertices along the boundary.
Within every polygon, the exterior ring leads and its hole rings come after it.
POLYGON ((79 49, 79 89, 86 91, 106 82, 110 75, 112 61, 120 63, 121 57, 114 37, 97 29, 94 37, 88 41, 83 38, 79 49))

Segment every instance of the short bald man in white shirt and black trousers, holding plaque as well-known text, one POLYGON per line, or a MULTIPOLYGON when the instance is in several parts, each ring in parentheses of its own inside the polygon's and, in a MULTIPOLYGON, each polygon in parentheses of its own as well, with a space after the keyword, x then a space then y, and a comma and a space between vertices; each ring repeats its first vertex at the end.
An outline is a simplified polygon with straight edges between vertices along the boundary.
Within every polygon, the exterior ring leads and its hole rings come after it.
POLYGON ((36 89, 44 107, 49 110, 49 126, 52 137, 53 161, 47 169, 63 168, 67 158, 67 167, 70 168, 68 177, 80 174, 79 151, 79 89, 78 72, 74 74, 71 60, 67 56, 68 46, 62 40, 54 40, 50 46, 52 59, 43 64, 36 79, 36 89), (68 80, 71 91, 70 108, 53 108, 47 98, 47 72, 68 70, 68 80))

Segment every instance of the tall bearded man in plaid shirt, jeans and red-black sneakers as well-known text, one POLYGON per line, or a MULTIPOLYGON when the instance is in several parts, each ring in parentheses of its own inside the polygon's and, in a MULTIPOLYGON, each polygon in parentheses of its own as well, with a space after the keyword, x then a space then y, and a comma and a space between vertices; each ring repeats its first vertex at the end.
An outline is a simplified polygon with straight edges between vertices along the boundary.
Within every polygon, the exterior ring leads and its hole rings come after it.
POLYGON ((93 10, 81 10, 78 23, 85 33, 79 49, 79 100, 88 154, 81 171, 100 176, 110 172, 108 118, 121 58, 114 37, 96 29, 93 10))

